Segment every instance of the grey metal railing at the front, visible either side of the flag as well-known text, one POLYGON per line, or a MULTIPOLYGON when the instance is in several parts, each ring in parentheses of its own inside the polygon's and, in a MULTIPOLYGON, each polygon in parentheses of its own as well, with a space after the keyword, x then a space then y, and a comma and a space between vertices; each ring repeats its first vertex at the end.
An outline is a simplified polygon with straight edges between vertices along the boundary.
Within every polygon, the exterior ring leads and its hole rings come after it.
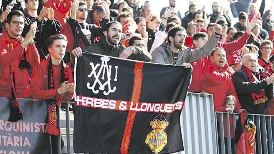
MULTIPOLYGON (((69 104, 74 104, 74 102, 62 103, 65 105, 66 109, 66 148, 67 153, 71 154, 69 104)), ((232 131, 234 134, 237 116, 239 116, 237 113, 229 114, 225 112, 214 112, 212 95, 203 97, 200 93, 188 93, 185 106, 180 116, 180 125, 185 148, 184 152, 186 154, 233 154, 236 150, 236 145, 234 142, 231 142, 231 138, 234 137, 230 134, 230 125, 233 126, 232 131), (232 116, 231 124, 229 116, 232 116), (224 119, 223 117, 226 118, 224 119), (224 130, 224 128, 226 128, 226 130, 224 130), (226 139, 224 137, 225 132, 226 139), (234 145, 234 149, 231 148, 231 145, 234 145), (225 150, 226 148, 227 150, 225 150)), ((249 118, 257 126, 255 153, 274 154, 272 150, 272 141, 274 139, 272 133, 274 124, 273 121, 271 121, 274 119, 274 116, 249 114, 249 118)), ((58 122, 60 122, 60 119, 58 122)), ((58 127, 60 130, 59 125, 58 127)), ((58 140, 58 154, 61 154, 60 138, 61 133, 58 140)), ((182 154, 182 152, 174 154, 182 154)))

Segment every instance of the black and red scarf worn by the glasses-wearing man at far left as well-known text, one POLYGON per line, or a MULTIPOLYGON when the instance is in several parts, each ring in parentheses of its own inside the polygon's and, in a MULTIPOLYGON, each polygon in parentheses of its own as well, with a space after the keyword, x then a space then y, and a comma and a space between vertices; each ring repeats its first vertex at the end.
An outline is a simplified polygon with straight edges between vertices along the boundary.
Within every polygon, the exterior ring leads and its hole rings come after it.
MULTIPOLYGON (((15 39, 13 39, 5 29, 2 29, 2 30, 3 30, 3 35, 6 35, 6 38, 7 38, 7 48, 9 49, 9 52, 11 52, 13 50, 12 41, 15 39)), ((20 39, 20 42, 23 41, 23 38, 21 36, 19 39, 20 39)), ((17 96, 16 96, 14 67, 15 67, 15 62, 13 61, 11 63, 11 65, 9 66, 12 89, 11 89, 11 98, 10 98, 10 101, 11 101, 10 116, 9 116, 8 121, 11 121, 11 122, 15 122, 15 121, 19 121, 19 120, 23 119, 22 110, 20 108, 20 105, 19 105, 19 102, 18 102, 17 96)), ((19 68, 27 69, 28 72, 30 72, 30 69, 31 69, 30 64, 28 62, 26 62, 26 48, 20 54, 19 68)))

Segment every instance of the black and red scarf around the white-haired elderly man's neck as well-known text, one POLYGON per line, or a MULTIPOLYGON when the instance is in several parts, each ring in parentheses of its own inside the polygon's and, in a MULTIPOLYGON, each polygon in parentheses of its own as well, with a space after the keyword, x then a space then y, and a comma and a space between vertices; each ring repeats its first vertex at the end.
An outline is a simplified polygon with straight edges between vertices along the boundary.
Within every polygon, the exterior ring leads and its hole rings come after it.
MULTIPOLYGON (((249 82, 259 81, 259 79, 257 79, 257 77, 250 71, 250 69, 244 66, 242 66, 242 69, 247 72, 249 82)), ((267 96, 264 95, 263 90, 251 93, 251 96, 254 105, 265 103, 268 100, 267 96)))

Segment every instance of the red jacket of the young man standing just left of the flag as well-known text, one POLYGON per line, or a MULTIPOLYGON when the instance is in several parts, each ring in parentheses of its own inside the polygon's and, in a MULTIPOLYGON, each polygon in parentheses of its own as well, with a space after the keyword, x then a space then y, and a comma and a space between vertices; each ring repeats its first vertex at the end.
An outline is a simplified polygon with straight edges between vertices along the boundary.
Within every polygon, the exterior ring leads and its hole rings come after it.
MULTIPOLYGON (((65 64, 64 64, 65 65, 65 64)), ((65 69, 69 70, 69 83, 73 82, 72 68, 65 65, 65 69)), ((61 76, 61 64, 52 65, 54 89, 48 89, 48 60, 43 59, 38 67, 35 67, 31 75, 30 91, 31 96, 36 99, 53 99, 57 96, 57 88, 61 76)), ((65 94, 63 100, 70 101, 73 94, 65 94)))

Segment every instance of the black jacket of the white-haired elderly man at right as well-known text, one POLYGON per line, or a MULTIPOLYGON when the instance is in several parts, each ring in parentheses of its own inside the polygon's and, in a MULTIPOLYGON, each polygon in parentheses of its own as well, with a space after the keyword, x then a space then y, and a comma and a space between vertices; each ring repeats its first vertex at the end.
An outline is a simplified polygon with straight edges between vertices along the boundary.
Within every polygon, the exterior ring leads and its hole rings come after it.
MULTIPOLYGON (((262 72, 253 74, 260 80, 259 75, 262 72)), ((251 93, 264 89, 265 95, 270 100, 273 97, 273 84, 267 85, 267 82, 262 79, 258 82, 249 82, 248 74, 243 69, 239 69, 233 74, 232 81, 243 109, 252 114, 264 114, 266 103, 254 105, 251 93)))

